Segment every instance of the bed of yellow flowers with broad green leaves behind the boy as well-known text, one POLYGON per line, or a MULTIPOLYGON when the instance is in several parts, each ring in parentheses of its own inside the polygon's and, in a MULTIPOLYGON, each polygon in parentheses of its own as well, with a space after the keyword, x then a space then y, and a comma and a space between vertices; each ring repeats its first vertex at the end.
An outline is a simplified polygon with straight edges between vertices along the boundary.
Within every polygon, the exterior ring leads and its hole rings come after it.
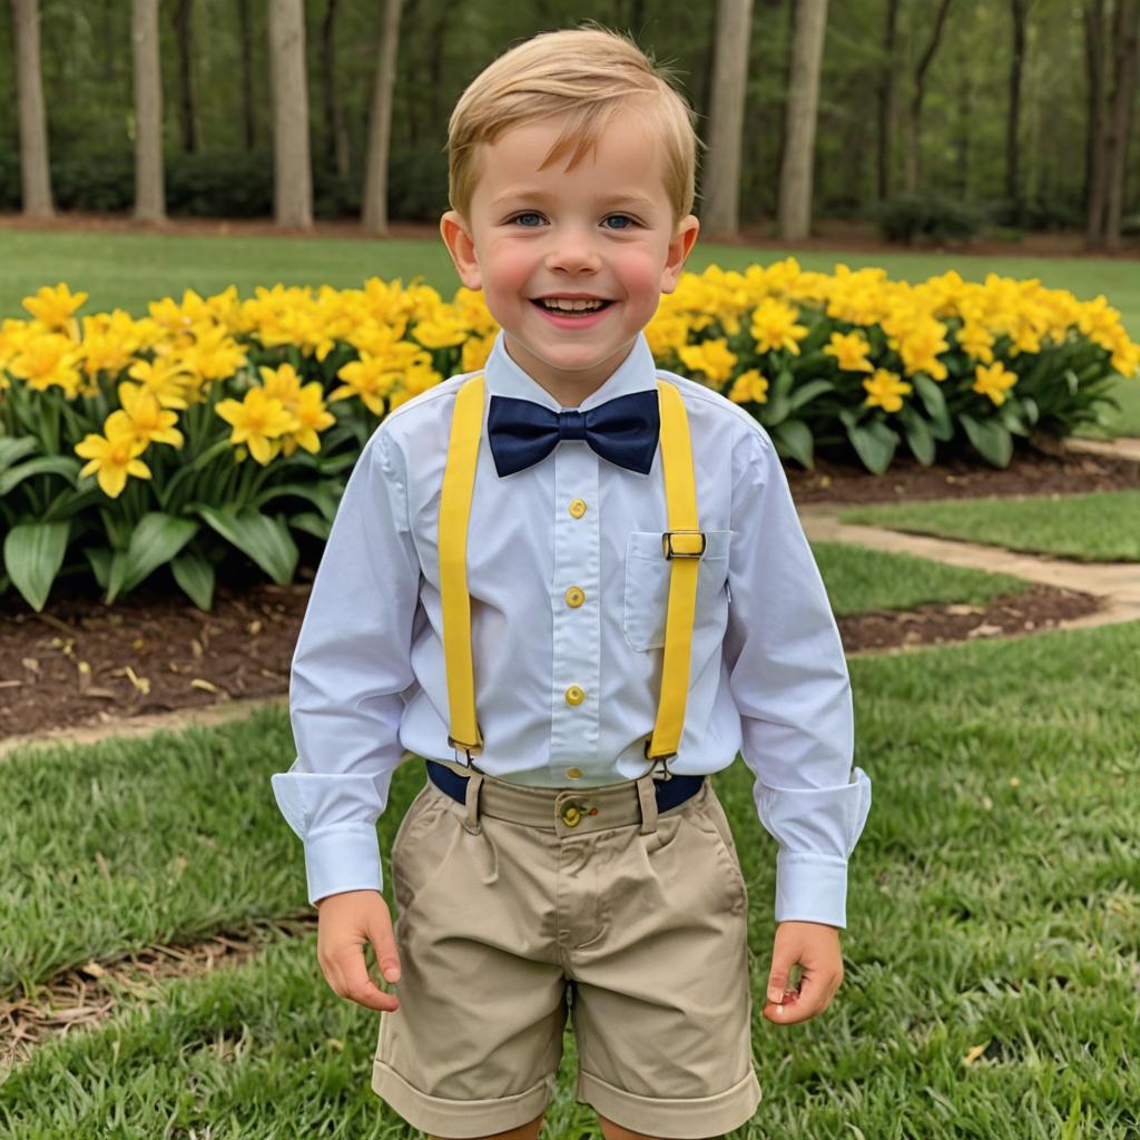
MULTIPOLYGON (((497 332, 482 294, 399 279, 188 291, 139 319, 79 318, 85 300, 43 287, 32 319, 0 325, 0 593, 36 610, 60 575, 111 603, 161 567, 207 610, 235 552, 288 583, 384 415, 481 367, 497 332)), ((685 274, 645 332, 660 367, 742 405, 782 456, 849 448, 876 473, 904 440, 926 465, 968 441, 1004 466, 1015 435, 1098 421, 1140 369, 1102 296, 795 259, 685 274)))

